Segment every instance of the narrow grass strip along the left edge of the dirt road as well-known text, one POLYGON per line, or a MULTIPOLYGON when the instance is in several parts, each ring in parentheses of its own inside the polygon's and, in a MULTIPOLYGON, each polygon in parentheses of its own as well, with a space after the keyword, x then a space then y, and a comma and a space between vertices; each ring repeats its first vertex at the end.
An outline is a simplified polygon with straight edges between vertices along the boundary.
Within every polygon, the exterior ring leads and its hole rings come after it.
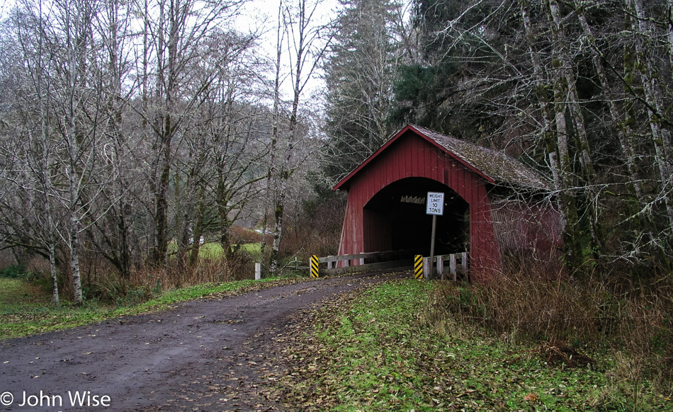
POLYGON ((170 290, 140 304, 121 306, 85 301, 82 307, 74 307, 69 302, 63 302, 61 307, 53 307, 41 294, 42 292, 34 291, 34 294, 31 294, 33 293, 31 285, 27 282, 0 279, 0 339, 72 328, 118 316, 169 309, 176 303, 200 297, 221 297, 298 281, 278 278, 238 280, 170 290))

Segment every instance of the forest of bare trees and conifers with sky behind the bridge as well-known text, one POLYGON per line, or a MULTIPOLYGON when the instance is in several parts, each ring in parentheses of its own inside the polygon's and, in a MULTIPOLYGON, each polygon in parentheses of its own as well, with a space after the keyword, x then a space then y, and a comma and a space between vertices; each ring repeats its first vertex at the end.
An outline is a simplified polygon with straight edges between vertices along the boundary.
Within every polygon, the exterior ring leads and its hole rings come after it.
POLYGON ((414 123, 548 176, 569 273, 669 273, 673 1, 283 0, 254 30, 243 7, 5 11, 5 265, 76 303, 232 278, 251 240, 277 274, 336 252, 332 185, 414 123))

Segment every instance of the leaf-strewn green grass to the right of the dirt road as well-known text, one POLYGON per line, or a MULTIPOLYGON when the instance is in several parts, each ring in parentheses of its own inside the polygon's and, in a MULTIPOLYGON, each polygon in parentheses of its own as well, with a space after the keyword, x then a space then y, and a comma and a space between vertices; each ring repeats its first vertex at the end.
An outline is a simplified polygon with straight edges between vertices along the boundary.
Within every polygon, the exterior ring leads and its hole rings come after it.
POLYGON ((435 285, 388 282, 314 314, 315 328, 291 349, 300 362, 281 381, 288 404, 307 411, 673 411, 669 396, 618 377, 609 358, 599 358, 608 372, 551 367, 533 345, 503 343, 457 322, 438 330, 427 316, 435 285))

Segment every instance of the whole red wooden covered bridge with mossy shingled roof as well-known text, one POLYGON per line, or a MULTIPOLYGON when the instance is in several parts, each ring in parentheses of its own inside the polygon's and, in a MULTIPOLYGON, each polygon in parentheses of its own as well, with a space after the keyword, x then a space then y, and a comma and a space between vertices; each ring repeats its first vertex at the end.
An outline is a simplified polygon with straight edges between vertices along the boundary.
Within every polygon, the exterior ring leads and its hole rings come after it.
POLYGON ((428 192, 443 192, 435 254, 468 251, 473 277, 505 253, 553 253, 561 222, 550 183, 501 151, 409 125, 334 186, 347 190, 339 255, 405 250, 429 256, 428 192))

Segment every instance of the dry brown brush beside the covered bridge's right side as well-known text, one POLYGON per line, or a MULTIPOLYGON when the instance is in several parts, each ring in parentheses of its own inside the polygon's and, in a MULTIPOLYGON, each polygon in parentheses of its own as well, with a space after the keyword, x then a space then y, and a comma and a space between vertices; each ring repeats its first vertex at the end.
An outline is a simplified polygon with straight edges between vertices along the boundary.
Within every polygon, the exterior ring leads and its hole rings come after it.
POLYGON ((562 271, 551 277, 547 266, 536 261, 508 269, 487 285, 439 287, 431 321, 480 326, 511 343, 608 350, 618 374, 671 387, 671 275, 636 283, 617 275, 575 280, 562 271))

